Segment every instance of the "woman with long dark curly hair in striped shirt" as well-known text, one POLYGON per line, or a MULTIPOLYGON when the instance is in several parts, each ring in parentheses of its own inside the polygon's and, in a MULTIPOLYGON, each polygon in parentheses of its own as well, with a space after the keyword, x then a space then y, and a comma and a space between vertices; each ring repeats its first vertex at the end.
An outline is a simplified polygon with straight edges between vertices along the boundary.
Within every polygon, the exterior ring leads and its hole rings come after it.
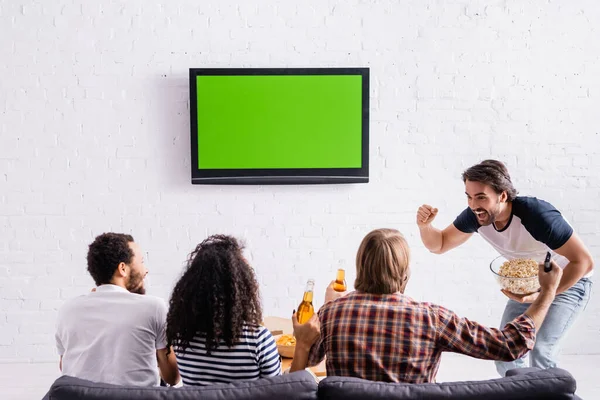
POLYGON ((173 289, 167 348, 184 385, 256 380, 281 374, 273 336, 263 326, 258 282, 233 237, 210 236, 190 254, 173 289))

